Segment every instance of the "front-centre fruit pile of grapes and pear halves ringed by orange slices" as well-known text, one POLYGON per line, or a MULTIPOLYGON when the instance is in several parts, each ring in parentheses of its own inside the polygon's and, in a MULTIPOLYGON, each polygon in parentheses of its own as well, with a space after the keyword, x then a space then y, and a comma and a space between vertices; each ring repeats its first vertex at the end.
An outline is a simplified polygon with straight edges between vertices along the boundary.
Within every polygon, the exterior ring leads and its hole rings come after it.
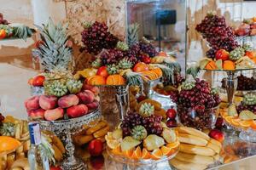
POLYGON ((177 132, 154 115, 154 105, 144 102, 138 112, 129 112, 118 128, 105 139, 109 152, 133 161, 160 160, 177 152, 177 132))

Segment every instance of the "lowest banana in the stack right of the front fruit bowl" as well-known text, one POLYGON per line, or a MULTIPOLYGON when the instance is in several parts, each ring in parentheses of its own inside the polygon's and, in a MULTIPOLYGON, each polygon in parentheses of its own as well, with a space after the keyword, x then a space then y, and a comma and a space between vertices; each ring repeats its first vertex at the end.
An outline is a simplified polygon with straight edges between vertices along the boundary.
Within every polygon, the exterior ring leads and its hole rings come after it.
POLYGON ((197 163, 203 165, 210 165, 214 162, 212 156, 199 156, 195 154, 187 154, 183 152, 178 152, 175 158, 179 161, 186 161, 189 163, 197 163))

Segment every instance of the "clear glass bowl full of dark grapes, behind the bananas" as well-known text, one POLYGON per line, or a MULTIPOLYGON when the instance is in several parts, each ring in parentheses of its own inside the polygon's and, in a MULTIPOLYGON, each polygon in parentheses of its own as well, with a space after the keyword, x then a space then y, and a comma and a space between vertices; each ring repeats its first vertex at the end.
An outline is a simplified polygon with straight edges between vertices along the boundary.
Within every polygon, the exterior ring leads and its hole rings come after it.
POLYGON ((179 122, 186 127, 195 127, 199 130, 212 129, 218 117, 219 106, 211 109, 197 110, 177 105, 179 122))

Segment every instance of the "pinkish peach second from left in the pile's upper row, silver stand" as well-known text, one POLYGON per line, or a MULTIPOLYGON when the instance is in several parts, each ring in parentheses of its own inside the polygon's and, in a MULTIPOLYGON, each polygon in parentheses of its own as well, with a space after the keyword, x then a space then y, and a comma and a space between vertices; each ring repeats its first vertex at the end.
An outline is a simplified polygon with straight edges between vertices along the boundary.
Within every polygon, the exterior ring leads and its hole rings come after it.
POLYGON ((54 95, 41 95, 39 98, 39 105, 44 110, 54 109, 57 105, 57 98, 54 95))

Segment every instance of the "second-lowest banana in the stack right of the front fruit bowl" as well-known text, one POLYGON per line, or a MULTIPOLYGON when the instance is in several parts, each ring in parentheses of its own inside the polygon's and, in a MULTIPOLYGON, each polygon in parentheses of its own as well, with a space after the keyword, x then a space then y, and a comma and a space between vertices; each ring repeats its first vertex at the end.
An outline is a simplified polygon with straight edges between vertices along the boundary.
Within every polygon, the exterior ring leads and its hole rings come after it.
POLYGON ((207 147, 203 147, 203 146, 197 146, 194 144, 180 144, 179 148, 180 148, 180 151, 183 151, 188 154, 196 154, 196 155, 201 155, 201 156, 214 156, 215 155, 214 150, 207 148, 207 147))

